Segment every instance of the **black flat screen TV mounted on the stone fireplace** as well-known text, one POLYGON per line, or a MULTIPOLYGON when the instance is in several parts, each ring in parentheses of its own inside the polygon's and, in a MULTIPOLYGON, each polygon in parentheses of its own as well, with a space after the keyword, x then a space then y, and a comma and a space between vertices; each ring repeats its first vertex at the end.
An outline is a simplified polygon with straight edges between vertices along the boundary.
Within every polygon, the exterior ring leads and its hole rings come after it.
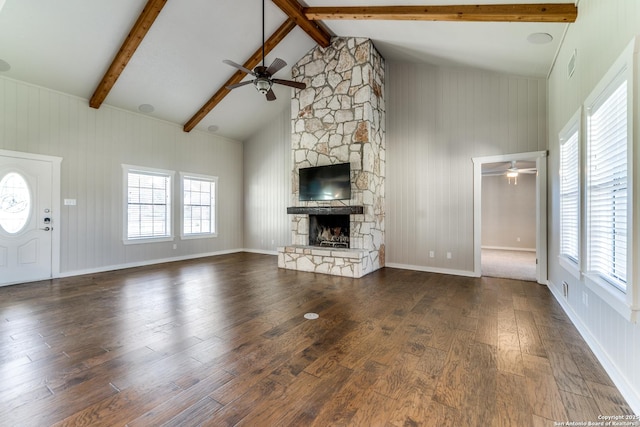
POLYGON ((300 200, 346 200, 351 198, 351 165, 301 168, 300 200))

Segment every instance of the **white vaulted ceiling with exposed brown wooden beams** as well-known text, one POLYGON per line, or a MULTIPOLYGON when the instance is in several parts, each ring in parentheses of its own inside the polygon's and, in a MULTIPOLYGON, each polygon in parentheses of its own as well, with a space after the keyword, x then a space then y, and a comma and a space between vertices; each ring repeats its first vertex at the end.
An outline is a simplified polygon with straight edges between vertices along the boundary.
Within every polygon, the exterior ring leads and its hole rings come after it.
MULTIPOLYGON (((357 36, 372 39, 387 61, 545 77, 576 12, 573 3, 534 0, 384 7, 397 3, 266 0, 266 62, 291 65, 327 36, 357 36), (453 14, 445 8, 464 4, 453 14), (560 22, 525 22, 530 14, 560 22), (528 40, 539 33, 552 40, 528 40)), ((246 77, 222 61, 256 64, 262 37, 262 0, 0 0, 0 75, 90 99, 94 108, 143 111, 185 131, 243 140, 290 101, 284 86, 274 86, 273 102, 251 86, 224 89, 246 77)), ((290 66, 276 77, 290 78, 290 66)))

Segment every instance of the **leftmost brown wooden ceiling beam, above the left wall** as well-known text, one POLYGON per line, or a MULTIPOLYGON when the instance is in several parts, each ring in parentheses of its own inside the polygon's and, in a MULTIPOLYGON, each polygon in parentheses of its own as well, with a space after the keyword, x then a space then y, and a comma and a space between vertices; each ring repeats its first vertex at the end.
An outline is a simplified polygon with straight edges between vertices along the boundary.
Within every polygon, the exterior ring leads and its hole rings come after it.
POLYGON ((116 57, 111 62, 109 69, 102 77, 102 80, 98 84, 93 96, 89 100, 89 106, 93 108, 100 108, 104 100, 109 95, 109 92, 116 84, 116 80, 120 77, 125 67, 129 63, 129 60, 135 53, 142 40, 147 35, 147 32, 155 22, 156 18, 160 14, 160 11, 167 3, 167 0, 148 0, 142 13, 138 16, 136 23, 133 24, 129 35, 122 43, 120 50, 116 54, 116 57))

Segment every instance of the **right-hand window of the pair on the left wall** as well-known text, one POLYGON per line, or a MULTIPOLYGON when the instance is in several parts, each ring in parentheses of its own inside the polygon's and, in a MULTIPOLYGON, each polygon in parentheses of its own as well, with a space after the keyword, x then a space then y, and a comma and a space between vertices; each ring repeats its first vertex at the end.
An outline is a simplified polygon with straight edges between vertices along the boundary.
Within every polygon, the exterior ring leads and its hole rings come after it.
POLYGON ((180 174, 182 178, 182 237, 211 237, 216 228, 218 178, 180 174))

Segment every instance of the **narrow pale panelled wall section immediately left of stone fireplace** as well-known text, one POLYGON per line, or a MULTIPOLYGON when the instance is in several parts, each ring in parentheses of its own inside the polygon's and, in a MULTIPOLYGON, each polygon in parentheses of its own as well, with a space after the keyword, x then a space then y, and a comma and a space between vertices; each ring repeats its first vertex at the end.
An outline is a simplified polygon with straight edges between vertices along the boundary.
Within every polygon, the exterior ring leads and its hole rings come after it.
POLYGON ((244 245, 277 254, 291 244, 291 117, 287 108, 244 142, 244 245))

